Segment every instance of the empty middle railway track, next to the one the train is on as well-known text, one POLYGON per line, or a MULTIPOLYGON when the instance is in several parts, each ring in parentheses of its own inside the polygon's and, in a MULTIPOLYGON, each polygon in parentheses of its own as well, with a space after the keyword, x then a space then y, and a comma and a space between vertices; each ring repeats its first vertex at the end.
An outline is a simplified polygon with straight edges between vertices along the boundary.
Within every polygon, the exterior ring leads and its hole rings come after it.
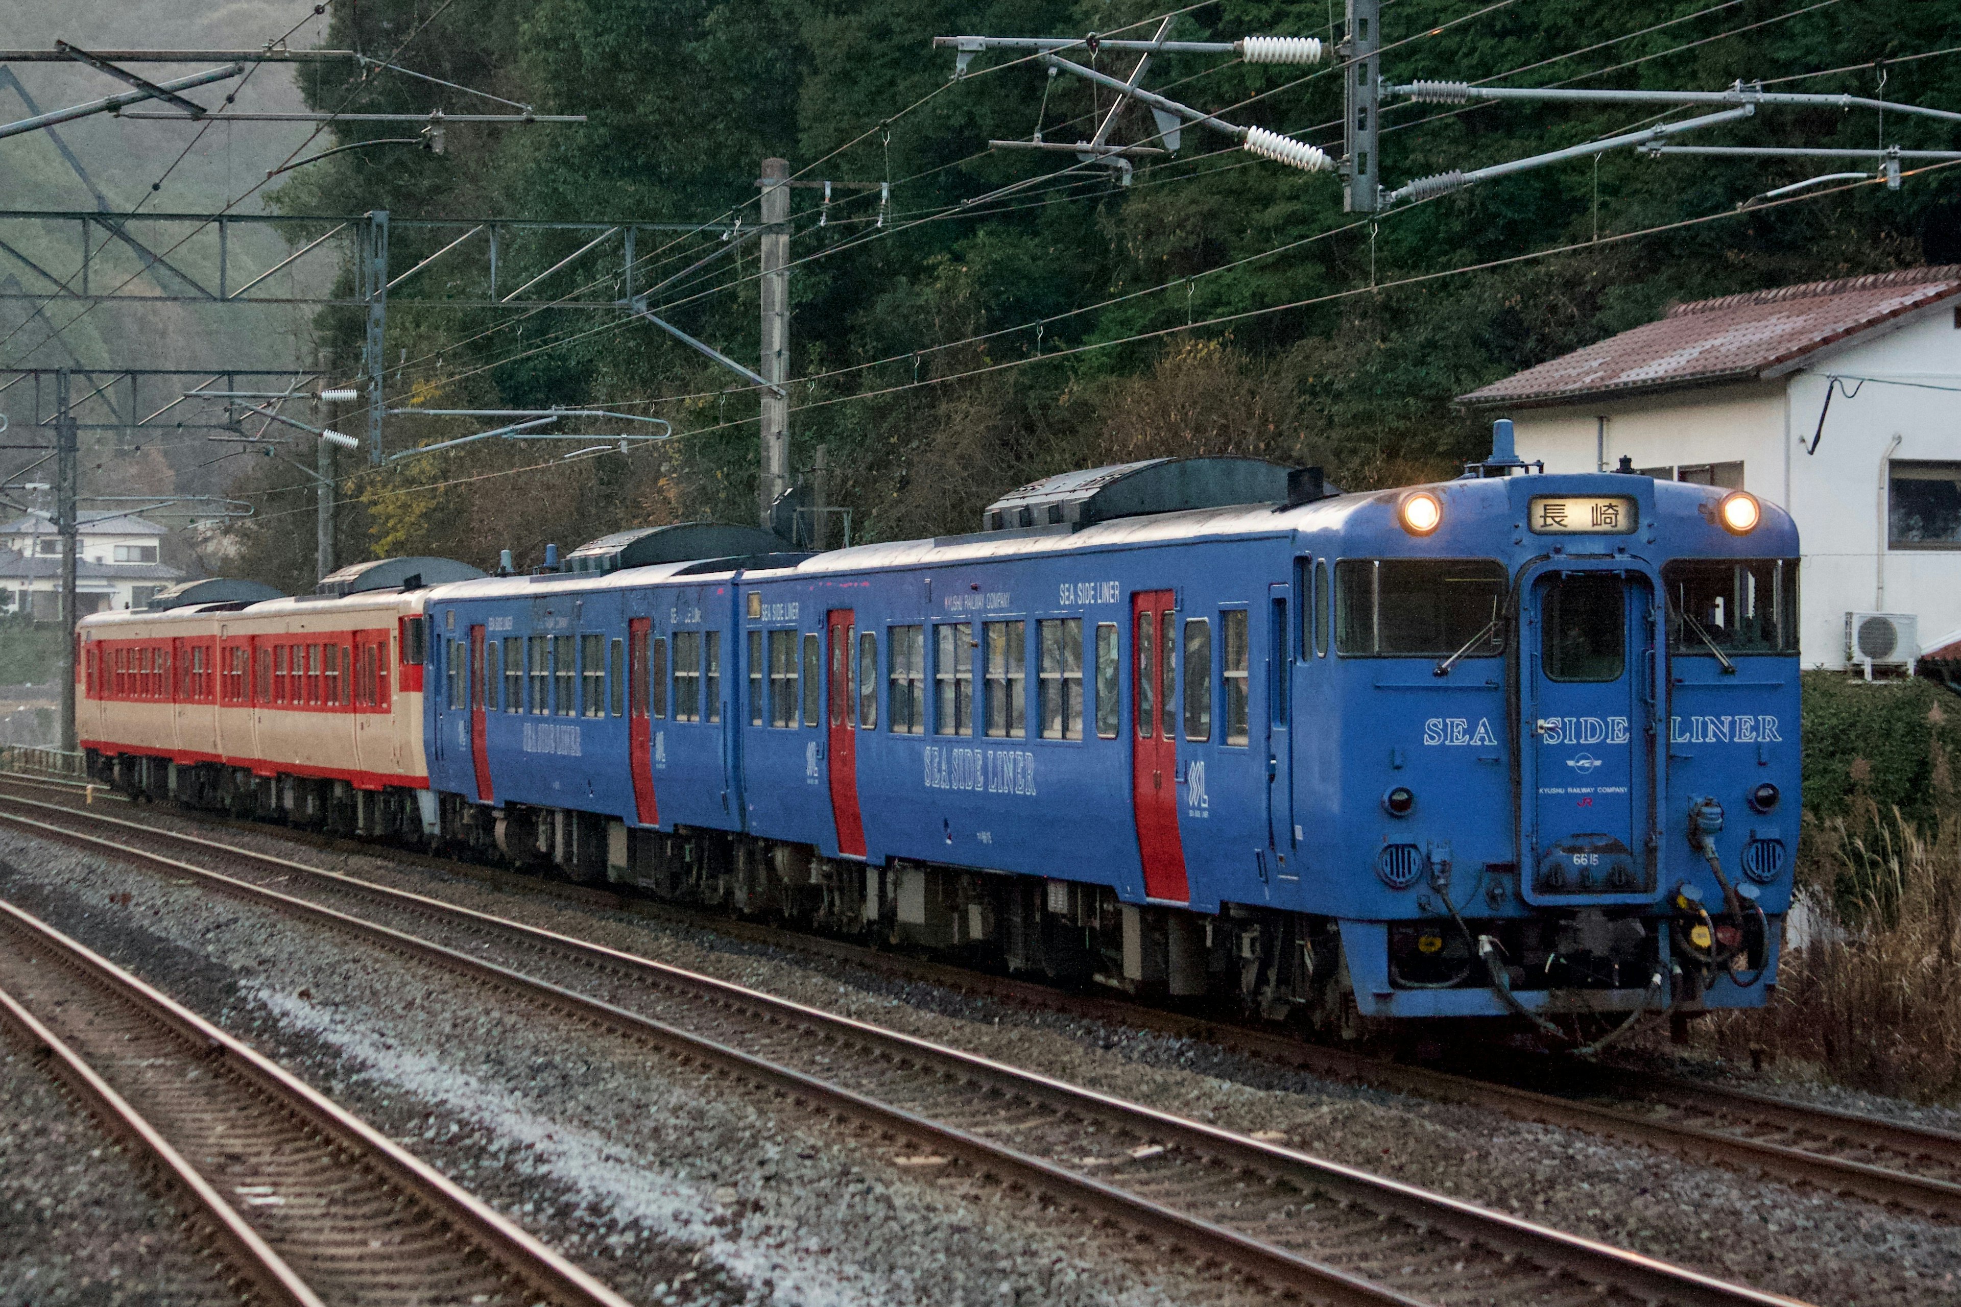
POLYGON ((327 923, 651 1044, 694 1074, 869 1129, 898 1166, 992 1178, 1308 1301, 1792 1303, 1277 1140, 306 862, 18 798, 0 821, 327 923))

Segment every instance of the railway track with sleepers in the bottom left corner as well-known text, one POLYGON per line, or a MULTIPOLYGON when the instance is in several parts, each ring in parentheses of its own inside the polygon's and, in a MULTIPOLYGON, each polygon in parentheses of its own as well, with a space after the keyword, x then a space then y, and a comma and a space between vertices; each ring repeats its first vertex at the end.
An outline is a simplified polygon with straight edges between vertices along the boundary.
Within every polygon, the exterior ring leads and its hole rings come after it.
POLYGON ((251 1046, 6 901, 0 1023, 149 1162, 251 1301, 626 1307, 251 1046))

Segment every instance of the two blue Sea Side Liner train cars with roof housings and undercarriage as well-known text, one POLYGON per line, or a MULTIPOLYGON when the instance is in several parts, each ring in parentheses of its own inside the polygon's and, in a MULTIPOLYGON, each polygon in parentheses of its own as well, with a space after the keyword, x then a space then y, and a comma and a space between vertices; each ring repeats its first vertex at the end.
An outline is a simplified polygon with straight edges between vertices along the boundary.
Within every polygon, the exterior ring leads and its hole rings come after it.
POLYGON ((1373 494, 1153 460, 975 535, 669 527, 443 586, 443 839, 1345 1033, 1761 1005, 1796 531, 1506 453, 1373 494))

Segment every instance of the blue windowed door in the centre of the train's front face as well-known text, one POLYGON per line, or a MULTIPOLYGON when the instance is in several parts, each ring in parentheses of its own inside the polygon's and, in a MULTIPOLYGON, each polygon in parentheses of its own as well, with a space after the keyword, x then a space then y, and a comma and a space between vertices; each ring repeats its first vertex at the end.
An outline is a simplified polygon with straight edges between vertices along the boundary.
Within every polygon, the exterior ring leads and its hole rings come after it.
POLYGON ((1522 633, 1532 901, 1653 894, 1651 615, 1635 572, 1551 572, 1532 586, 1522 633))

